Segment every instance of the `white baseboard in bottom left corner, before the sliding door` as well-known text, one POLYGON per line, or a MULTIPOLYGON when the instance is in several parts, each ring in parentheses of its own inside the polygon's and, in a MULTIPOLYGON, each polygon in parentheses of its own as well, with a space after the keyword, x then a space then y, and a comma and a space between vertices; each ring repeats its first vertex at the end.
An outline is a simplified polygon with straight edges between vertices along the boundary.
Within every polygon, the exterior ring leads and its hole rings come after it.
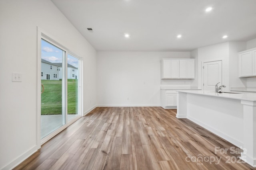
POLYGON ((19 156, 18 158, 15 158, 12 162, 10 162, 9 164, 7 164, 4 167, 0 167, 1 170, 11 170, 13 168, 15 168, 16 166, 18 166, 21 162, 23 162, 24 160, 26 160, 29 156, 31 156, 32 154, 34 154, 37 151, 37 146, 35 145, 34 147, 32 147, 31 149, 29 149, 28 151, 26 151, 24 154, 22 154, 21 156, 19 156))

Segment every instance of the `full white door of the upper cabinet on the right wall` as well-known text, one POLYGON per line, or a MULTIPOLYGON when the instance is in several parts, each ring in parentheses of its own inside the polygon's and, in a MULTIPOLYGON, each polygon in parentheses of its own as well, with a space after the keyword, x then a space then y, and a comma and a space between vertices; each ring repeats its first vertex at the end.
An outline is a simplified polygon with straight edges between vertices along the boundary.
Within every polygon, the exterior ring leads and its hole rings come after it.
POLYGON ((239 76, 252 76, 252 51, 239 54, 239 76))

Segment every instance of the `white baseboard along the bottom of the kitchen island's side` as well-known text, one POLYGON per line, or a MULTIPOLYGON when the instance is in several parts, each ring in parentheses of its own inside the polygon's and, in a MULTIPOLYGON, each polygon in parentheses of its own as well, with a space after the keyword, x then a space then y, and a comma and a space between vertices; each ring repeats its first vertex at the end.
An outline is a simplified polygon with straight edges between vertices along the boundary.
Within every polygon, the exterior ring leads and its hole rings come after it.
POLYGON ((194 119, 193 117, 187 116, 187 119, 189 119, 189 120, 193 121, 194 123, 204 127, 208 131, 210 131, 210 132, 214 133, 215 135, 218 135, 219 137, 229 141, 230 143, 236 145, 237 147, 243 147, 244 146, 244 144, 242 142, 237 141, 236 139, 222 133, 221 131, 218 131, 218 130, 214 129, 213 127, 210 127, 210 126, 202 123, 201 121, 198 121, 197 119, 194 119))

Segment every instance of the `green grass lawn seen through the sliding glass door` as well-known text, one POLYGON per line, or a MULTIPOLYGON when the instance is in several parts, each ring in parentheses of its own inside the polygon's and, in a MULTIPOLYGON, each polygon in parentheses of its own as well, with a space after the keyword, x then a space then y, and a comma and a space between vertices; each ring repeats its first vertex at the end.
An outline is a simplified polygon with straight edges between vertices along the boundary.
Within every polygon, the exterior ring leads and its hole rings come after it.
MULTIPOLYGON (((62 114, 62 80, 41 80, 41 115, 62 114)), ((78 80, 68 79, 68 114, 78 113, 78 80)))

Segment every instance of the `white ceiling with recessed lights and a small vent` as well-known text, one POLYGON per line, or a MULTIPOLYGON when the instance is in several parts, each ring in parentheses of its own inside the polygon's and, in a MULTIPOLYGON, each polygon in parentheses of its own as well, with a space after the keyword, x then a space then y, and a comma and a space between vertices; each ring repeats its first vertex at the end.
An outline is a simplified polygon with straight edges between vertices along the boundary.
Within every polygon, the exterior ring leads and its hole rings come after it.
POLYGON ((192 51, 256 38, 256 0, 52 2, 97 51, 192 51), (206 13, 209 6, 213 10, 206 13))

